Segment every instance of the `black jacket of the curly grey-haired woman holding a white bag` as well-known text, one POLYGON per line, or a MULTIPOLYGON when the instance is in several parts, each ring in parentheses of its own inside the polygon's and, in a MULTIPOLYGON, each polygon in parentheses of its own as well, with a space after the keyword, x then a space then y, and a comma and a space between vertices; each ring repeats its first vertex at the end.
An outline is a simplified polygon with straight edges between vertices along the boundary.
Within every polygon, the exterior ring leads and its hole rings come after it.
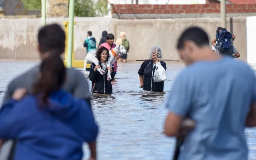
MULTIPOLYGON (((166 63, 161 61, 161 66, 166 70, 166 63)), ((152 60, 145 60, 138 70, 139 75, 144 75, 143 90, 163 92, 163 82, 154 82, 155 66, 152 60)))

